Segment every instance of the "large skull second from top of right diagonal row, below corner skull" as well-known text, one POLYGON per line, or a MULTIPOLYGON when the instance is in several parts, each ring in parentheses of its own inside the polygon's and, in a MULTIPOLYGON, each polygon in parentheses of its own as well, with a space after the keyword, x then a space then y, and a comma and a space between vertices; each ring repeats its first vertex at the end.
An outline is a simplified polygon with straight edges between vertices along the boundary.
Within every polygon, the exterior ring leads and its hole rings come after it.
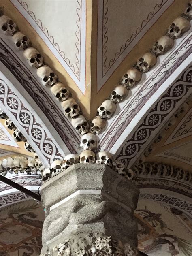
POLYGON ((168 28, 168 35, 175 39, 181 37, 185 32, 190 29, 190 22, 183 18, 177 17, 168 28))

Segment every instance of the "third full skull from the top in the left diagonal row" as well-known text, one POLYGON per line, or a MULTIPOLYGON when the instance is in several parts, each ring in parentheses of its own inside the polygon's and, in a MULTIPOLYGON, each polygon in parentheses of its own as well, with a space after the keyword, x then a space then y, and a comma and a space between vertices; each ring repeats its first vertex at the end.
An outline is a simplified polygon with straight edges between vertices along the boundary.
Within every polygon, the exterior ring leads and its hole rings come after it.
POLYGON ((31 67, 39 68, 43 66, 43 57, 35 48, 27 48, 23 52, 23 56, 26 58, 31 67))

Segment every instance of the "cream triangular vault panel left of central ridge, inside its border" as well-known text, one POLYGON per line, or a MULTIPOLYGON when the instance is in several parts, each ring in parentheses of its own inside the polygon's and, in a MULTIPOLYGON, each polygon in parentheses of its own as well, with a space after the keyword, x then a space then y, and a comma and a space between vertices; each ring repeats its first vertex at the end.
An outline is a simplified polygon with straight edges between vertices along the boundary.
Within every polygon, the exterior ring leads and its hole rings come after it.
MULTIPOLYGON (((30 10, 31 17, 36 21, 47 39, 52 41, 60 55, 70 66, 73 73, 80 76, 80 18, 77 0, 25 0, 23 8, 30 10)), ((41 36, 41 34, 40 34, 41 36)), ((45 42, 46 43, 46 42, 45 42)))

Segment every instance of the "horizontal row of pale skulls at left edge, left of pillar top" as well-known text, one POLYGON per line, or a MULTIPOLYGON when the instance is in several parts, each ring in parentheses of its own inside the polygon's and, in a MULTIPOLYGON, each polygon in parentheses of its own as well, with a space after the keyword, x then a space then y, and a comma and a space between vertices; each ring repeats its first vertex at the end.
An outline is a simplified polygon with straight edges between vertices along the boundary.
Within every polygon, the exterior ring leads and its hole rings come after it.
POLYGON ((0 160, 0 174, 3 176, 9 173, 24 173, 37 174, 38 171, 43 171, 44 166, 37 155, 34 157, 15 156, 14 158, 8 157, 0 160))

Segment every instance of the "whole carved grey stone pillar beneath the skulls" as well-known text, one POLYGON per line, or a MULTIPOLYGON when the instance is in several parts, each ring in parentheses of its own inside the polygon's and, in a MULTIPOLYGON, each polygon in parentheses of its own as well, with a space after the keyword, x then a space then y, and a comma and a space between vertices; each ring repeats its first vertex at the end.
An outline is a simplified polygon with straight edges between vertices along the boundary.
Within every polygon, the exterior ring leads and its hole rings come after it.
POLYGON ((138 188, 105 164, 75 164, 41 186, 41 256, 139 255, 138 188))

